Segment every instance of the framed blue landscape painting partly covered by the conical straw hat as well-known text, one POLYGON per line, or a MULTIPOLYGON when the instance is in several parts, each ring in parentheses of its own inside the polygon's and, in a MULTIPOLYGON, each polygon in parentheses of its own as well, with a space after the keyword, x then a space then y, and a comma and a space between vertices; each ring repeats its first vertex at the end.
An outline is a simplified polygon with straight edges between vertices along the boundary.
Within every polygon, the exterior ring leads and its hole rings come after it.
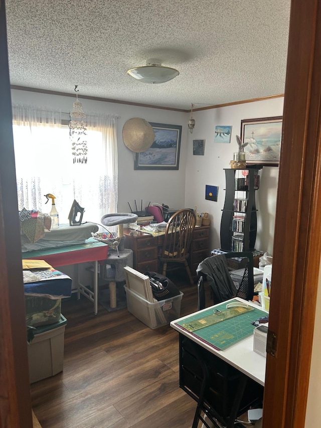
POLYGON ((178 170, 182 125, 149 122, 154 141, 145 152, 136 153, 134 170, 178 170))

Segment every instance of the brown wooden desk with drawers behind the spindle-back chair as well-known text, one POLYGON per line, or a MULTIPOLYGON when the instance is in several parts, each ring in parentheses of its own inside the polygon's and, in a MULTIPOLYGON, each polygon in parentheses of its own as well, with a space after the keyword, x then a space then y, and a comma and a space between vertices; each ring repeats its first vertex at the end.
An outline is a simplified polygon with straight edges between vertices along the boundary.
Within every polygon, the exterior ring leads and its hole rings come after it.
MULTIPOLYGON (((210 256, 209 249, 210 226, 196 227, 193 232, 193 241, 190 248, 188 263, 192 276, 196 276, 199 263, 210 256)), ((158 269, 158 253, 163 246, 164 235, 152 236, 141 231, 124 229, 124 245, 133 251, 133 268, 139 272, 158 269)))

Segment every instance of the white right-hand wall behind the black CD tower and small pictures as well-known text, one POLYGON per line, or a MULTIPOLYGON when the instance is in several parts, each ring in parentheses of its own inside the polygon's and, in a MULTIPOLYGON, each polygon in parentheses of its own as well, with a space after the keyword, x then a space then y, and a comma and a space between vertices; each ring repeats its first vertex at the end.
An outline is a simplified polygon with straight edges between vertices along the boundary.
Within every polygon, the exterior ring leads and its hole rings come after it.
MULTIPOLYGON (((240 135, 241 120, 282 114, 283 97, 193 113, 196 125, 193 134, 189 133, 188 137, 185 205, 197 206, 198 211, 210 214, 211 248, 220 247, 220 224, 225 198, 223 169, 230 168, 233 153, 238 151, 236 135, 240 135), (232 125, 230 144, 214 143, 216 125, 232 125), (204 156, 193 155, 193 139, 205 139, 204 156), (219 187, 217 202, 205 199, 205 185, 219 187)), ((263 167, 260 176, 260 189, 256 194, 258 233, 255 247, 272 254, 278 168, 263 167)))

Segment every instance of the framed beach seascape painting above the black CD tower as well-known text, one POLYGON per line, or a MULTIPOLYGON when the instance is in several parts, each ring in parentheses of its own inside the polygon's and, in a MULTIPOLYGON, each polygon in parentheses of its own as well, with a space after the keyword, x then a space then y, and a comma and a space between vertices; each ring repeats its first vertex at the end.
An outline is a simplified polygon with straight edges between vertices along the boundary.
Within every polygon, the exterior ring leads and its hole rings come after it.
POLYGON ((241 141, 248 165, 277 167, 280 159, 282 116, 241 120, 241 141))

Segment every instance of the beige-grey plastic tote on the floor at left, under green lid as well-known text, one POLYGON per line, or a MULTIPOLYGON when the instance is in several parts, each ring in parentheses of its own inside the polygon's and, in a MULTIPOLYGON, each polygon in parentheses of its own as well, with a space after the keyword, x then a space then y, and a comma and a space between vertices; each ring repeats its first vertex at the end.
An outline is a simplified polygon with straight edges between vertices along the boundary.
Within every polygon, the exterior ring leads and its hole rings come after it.
POLYGON ((37 327, 33 341, 28 345, 30 383, 61 372, 64 367, 64 339, 67 320, 37 327))

